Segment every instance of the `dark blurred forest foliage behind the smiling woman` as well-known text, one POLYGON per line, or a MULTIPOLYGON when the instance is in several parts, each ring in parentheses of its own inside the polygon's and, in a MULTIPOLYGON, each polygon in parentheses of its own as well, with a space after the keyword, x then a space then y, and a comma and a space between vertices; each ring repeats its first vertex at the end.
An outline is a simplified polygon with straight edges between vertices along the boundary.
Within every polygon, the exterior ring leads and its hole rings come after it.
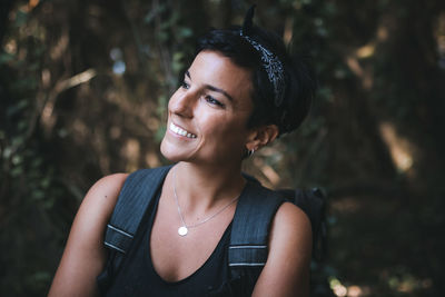
MULTIPOLYGON (((445 296, 445 1, 255 2, 319 79, 303 127, 246 165, 327 192, 318 296, 445 296)), ((46 295, 97 179, 166 164, 166 106, 196 38, 251 3, 1 0, 1 296, 46 295)))

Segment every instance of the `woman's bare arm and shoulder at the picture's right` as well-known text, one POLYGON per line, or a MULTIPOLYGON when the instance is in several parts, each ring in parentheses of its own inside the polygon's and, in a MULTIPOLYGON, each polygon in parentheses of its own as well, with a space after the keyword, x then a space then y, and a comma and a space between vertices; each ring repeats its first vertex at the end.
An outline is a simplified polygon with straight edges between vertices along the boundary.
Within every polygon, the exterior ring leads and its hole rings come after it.
POLYGON ((283 204, 275 215, 269 255, 253 296, 309 296, 312 227, 293 204, 283 204))

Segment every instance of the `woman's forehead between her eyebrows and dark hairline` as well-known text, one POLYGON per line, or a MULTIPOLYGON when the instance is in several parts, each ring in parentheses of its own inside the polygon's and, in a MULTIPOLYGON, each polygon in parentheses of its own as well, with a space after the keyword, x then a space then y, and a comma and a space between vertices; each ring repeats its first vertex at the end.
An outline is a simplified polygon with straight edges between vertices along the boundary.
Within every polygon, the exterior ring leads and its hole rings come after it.
POLYGON ((221 89, 235 101, 250 99, 251 72, 220 52, 199 52, 189 68, 189 73, 194 83, 221 89))

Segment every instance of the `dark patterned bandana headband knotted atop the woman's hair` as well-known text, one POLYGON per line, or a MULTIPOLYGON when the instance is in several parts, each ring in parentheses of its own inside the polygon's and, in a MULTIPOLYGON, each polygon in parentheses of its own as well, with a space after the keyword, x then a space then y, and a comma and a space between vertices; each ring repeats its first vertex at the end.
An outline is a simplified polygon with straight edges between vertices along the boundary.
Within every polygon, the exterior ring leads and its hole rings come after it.
POLYGON ((281 61, 270 50, 266 49, 257 41, 248 37, 248 31, 253 27, 255 6, 246 13, 246 18, 239 34, 247 40, 261 56, 263 67, 267 72, 270 83, 274 86, 275 105, 281 105, 286 89, 285 75, 281 61))

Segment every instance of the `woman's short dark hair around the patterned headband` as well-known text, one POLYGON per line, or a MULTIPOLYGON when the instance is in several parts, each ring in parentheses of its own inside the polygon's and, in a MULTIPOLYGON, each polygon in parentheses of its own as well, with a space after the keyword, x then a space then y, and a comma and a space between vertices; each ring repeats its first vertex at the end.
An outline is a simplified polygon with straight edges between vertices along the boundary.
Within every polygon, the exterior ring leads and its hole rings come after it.
POLYGON ((263 67, 260 53, 240 36, 240 27, 211 30, 198 40, 197 53, 214 50, 228 57, 235 65, 251 71, 254 111, 248 127, 276 125, 279 135, 299 127, 309 112, 316 90, 316 79, 309 65, 301 58, 290 57, 283 39, 254 26, 249 38, 278 57, 284 67, 286 88, 284 100, 275 105, 274 87, 263 67))

